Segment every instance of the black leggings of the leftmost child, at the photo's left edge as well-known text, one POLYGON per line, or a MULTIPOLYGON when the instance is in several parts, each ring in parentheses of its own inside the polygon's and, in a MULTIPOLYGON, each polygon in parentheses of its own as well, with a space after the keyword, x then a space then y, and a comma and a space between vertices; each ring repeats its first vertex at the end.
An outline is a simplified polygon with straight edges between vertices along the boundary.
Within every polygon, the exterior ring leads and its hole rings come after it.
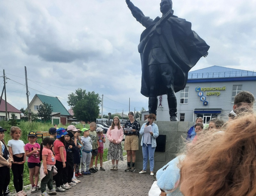
POLYGON ((3 196, 4 194, 8 194, 8 185, 10 183, 10 168, 7 166, 0 167, 0 196, 3 196))

